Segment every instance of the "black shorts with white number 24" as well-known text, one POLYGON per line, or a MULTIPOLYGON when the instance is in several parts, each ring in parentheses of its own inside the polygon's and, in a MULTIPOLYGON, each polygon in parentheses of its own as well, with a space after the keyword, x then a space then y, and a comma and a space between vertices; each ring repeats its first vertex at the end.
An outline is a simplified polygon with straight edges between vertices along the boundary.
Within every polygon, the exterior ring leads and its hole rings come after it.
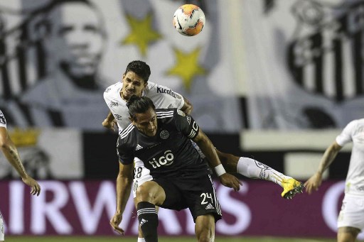
POLYGON ((213 214, 215 222, 221 219, 221 208, 210 175, 202 177, 160 177, 154 179, 166 193, 164 209, 190 209, 193 221, 200 215, 213 214))

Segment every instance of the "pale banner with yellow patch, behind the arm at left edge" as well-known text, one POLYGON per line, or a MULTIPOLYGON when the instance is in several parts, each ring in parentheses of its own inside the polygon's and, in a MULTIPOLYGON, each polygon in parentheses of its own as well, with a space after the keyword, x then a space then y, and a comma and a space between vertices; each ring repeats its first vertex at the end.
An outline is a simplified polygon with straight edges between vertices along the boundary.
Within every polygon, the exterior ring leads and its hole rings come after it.
MULTIPOLYGON (((71 128, 9 129, 26 171, 40 180, 84 177, 82 132, 71 128)), ((0 155, 0 179, 18 179, 0 155)))

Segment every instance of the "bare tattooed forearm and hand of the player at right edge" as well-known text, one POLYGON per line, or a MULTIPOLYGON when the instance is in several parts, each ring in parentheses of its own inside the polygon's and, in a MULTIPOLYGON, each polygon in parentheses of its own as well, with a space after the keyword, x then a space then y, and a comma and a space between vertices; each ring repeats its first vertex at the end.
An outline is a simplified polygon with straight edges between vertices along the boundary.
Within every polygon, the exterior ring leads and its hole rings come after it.
POLYGON ((311 194, 314 190, 318 190, 322 182, 323 172, 331 165, 333 160, 338 155, 338 152, 343 148, 336 141, 334 141, 323 153, 319 169, 317 172, 305 182, 306 192, 311 194))

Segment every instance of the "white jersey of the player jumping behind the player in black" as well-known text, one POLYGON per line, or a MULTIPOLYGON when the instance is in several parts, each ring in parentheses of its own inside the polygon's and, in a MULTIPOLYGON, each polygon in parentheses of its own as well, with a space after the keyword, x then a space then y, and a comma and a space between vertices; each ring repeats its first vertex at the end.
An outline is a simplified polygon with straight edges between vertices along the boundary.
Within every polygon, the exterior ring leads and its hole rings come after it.
MULTIPOLYGON (((131 123, 129 120, 129 109, 127 101, 120 97, 122 82, 112 84, 104 92, 104 99, 109 109, 117 121, 119 134, 131 123)), ((156 109, 182 109, 185 101, 181 94, 173 92, 170 88, 161 86, 154 82, 148 82, 143 93, 153 101, 156 109)), ((137 158, 134 160, 135 167, 144 166, 143 162, 137 158)))

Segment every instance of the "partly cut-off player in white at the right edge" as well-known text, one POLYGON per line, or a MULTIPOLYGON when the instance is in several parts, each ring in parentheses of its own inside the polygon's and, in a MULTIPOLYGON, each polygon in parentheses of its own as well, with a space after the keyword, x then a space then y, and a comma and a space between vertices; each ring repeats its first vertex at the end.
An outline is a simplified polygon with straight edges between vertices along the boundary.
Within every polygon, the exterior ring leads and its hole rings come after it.
POLYGON ((346 176, 345 197, 338 215, 338 242, 354 242, 358 233, 364 229, 364 119, 348 123, 323 153, 317 172, 305 183, 309 194, 319 189, 323 172, 341 148, 350 142, 353 142, 353 149, 346 176))

